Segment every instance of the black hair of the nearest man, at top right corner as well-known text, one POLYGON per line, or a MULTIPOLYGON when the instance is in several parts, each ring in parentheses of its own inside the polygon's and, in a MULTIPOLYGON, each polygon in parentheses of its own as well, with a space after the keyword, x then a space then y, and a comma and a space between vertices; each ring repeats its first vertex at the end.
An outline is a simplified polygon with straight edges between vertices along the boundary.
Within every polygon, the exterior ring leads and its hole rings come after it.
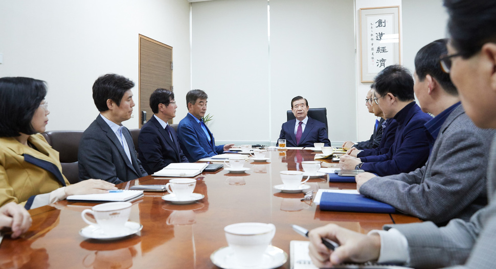
POLYGON ((491 0, 444 0, 451 44, 463 58, 496 42, 496 3, 491 0))

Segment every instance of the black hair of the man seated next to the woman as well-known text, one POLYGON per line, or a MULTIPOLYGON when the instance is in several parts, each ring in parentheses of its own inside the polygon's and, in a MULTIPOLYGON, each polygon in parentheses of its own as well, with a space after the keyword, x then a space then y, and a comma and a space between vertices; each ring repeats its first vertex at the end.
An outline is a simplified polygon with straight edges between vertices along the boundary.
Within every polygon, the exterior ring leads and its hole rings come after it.
POLYGON ((121 105, 122 96, 134 87, 134 82, 116 74, 99 77, 93 84, 93 101, 98 111, 107 111, 107 100, 110 99, 121 105))

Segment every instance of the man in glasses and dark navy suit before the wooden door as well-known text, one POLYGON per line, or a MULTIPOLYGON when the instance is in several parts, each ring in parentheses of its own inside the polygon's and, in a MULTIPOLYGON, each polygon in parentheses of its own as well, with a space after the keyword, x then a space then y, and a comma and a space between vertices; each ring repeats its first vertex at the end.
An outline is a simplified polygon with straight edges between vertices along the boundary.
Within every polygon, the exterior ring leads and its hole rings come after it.
POLYGON ((176 132, 167 121, 176 116, 174 93, 156 89, 150 95, 153 116, 143 125, 138 136, 138 155, 146 173, 153 174, 173 162, 188 162, 176 132))

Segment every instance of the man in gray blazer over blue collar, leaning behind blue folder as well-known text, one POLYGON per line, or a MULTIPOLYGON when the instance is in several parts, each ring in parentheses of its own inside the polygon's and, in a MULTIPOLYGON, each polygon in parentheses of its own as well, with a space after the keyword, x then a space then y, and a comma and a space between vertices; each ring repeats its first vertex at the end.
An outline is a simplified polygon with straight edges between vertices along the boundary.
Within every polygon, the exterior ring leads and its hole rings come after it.
POLYGON ((408 174, 355 177, 357 190, 365 196, 438 225, 453 218, 468 221, 487 204, 486 149, 494 135, 468 118, 442 71, 438 59, 447 53, 446 43, 440 39, 427 44, 415 57, 415 95, 422 111, 436 116, 425 124, 436 140, 426 165, 408 174))

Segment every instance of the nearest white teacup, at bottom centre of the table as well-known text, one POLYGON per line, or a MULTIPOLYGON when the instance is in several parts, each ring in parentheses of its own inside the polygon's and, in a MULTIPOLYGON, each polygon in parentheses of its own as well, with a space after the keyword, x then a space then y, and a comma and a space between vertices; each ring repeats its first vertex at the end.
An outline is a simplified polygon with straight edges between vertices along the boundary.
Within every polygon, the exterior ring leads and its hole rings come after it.
POLYGON ((237 223, 224 227, 234 260, 243 266, 257 266, 272 242, 276 226, 267 223, 237 223))

